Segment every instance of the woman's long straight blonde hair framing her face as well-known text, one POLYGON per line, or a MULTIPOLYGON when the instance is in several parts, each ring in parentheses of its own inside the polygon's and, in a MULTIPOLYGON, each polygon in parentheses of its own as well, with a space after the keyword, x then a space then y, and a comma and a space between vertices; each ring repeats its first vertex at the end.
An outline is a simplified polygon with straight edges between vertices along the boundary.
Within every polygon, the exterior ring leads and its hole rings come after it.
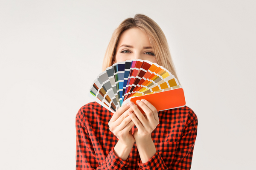
POLYGON ((156 22, 154 22, 154 20, 143 14, 136 14, 134 18, 127 18, 115 29, 103 59, 102 71, 105 71, 106 68, 113 65, 119 38, 123 31, 130 28, 140 28, 148 35, 149 41, 154 50, 154 55, 157 59, 157 64, 169 70, 178 80, 175 66, 169 51, 169 46, 162 29, 156 22))

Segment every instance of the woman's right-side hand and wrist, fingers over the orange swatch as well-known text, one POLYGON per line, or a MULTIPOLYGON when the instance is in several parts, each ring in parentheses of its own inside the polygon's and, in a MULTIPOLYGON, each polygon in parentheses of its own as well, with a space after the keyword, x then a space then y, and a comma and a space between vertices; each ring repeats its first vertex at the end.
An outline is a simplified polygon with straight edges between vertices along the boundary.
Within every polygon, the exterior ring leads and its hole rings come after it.
POLYGON ((145 112, 147 118, 145 118, 145 116, 140 112, 140 109, 137 107, 137 105, 134 105, 133 102, 130 102, 129 105, 134 113, 131 111, 128 111, 128 113, 129 117, 131 117, 132 121, 138 128, 134 132, 134 139, 140 153, 140 159, 143 163, 145 163, 157 152, 151 138, 151 133, 159 124, 159 118, 157 109, 145 99, 142 99, 141 101, 137 100, 136 103, 145 112))

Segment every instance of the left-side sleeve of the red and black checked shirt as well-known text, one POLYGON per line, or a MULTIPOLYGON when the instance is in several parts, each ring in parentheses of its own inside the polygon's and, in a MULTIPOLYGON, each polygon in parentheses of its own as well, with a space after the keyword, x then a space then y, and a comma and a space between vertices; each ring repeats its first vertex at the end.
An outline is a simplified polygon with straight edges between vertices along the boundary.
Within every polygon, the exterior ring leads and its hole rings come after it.
POLYGON ((76 170, 122 170, 129 164, 117 157, 113 148, 105 160, 100 161, 96 158, 99 153, 95 153, 95 150, 97 144, 92 143, 87 128, 76 116, 76 170))

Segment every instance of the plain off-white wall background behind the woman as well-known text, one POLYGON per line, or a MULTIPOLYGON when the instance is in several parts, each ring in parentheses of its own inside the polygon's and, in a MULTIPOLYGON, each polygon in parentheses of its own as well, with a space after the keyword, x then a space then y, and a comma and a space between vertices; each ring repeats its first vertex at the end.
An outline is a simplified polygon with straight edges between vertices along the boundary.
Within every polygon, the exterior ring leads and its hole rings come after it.
POLYGON ((76 167, 75 116, 114 29, 151 17, 198 116, 192 170, 256 169, 255 0, 0 0, 0 169, 76 167))

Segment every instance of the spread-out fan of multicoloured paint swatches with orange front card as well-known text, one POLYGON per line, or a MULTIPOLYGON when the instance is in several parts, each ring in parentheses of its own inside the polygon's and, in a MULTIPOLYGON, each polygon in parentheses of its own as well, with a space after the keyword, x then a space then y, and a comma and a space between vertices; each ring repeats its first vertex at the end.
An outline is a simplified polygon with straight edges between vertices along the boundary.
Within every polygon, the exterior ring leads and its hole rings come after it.
POLYGON ((94 80, 89 96, 113 113, 138 99, 148 100, 157 111, 186 105, 177 79, 166 68, 141 59, 108 67, 94 80))

